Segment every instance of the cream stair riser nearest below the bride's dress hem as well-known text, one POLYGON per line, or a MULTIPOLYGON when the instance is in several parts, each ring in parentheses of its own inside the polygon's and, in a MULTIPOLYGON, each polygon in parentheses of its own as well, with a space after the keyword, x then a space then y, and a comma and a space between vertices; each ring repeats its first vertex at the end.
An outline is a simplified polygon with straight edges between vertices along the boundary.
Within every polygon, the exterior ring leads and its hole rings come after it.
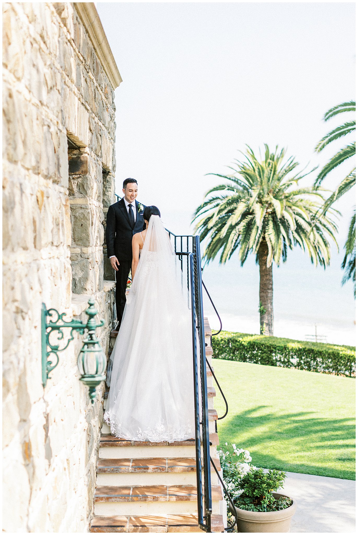
MULTIPOLYGON (((201 450, 202 452, 203 450, 201 450)), ((216 446, 210 446, 211 457, 217 457, 216 446)), ((101 446, 100 459, 148 459, 166 457, 195 458, 194 446, 101 446)))

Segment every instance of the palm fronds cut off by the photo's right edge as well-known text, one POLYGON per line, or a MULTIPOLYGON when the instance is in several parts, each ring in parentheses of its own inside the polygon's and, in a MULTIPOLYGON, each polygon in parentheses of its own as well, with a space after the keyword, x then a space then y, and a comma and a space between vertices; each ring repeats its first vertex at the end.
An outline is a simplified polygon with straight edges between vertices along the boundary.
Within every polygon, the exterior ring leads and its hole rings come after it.
MULTIPOLYGON (((335 117, 339 113, 346 113, 348 111, 355 111, 355 101, 343 102, 338 104, 328 110, 324 115, 324 120, 328 121, 335 117)), ((318 142, 316 146, 316 151, 321 152, 329 143, 339 139, 340 137, 346 136, 355 131, 355 120, 348 121, 337 128, 333 128, 331 132, 322 137, 321 141, 318 142)), ((318 174, 316 178, 315 185, 319 186, 333 169, 336 169, 338 165, 342 162, 345 162, 348 158, 352 158, 355 155, 355 141, 349 143, 344 148, 339 150, 329 162, 323 167, 322 171, 318 174)), ((323 214, 332 206, 334 201, 337 201, 339 197, 348 192, 355 185, 355 167, 352 171, 345 177, 340 184, 338 185, 336 191, 327 198, 326 202, 322 207, 323 214)), ((354 282, 354 296, 355 296, 355 209, 351 219, 351 224, 349 225, 348 237, 345 243, 346 254, 342 262, 342 269, 346 268, 345 275, 342 279, 342 284, 345 284, 347 280, 352 279, 354 282), (347 265, 347 267, 346 267, 347 265)))

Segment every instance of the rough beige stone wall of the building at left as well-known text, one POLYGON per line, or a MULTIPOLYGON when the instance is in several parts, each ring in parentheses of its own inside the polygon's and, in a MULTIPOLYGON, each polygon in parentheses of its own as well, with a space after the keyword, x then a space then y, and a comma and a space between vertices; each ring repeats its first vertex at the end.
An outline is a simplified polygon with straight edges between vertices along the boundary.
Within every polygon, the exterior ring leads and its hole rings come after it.
POLYGON ((108 353, 114 285, 103 281, 103 207, 114 193, 113 100, 74 4, 3 4, 7 532, 88 530, 104 386, 92 406, 78 380, 75 335, 43 388, 40 312, 44 302, 86 320, 93 295, 108 353))

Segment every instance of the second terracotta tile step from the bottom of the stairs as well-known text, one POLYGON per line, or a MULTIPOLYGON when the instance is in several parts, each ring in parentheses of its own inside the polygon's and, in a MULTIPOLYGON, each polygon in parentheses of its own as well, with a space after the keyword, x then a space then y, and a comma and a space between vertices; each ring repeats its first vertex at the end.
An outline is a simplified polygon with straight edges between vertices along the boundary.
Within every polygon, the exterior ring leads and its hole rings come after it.
MULTIPOLYGON (((211 496, 212 501, 222 500, 222 491, 219 485, 211 485, 211 496)), ((196 501, 196 499, 196 485, 98 485, 94 495, 95 503, 196 501)))

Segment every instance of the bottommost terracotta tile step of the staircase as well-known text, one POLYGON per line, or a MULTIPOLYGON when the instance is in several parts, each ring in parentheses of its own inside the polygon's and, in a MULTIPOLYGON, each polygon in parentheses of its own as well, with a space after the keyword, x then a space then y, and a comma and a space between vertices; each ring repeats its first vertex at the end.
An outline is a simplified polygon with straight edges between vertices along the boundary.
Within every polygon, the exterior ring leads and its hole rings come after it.
MULTIPOLYGON (((200 532, 196 515, 163 516, 95 516, 92 519, 92 533, 187 533, 200 532)), ((224 531, 223 517, 211 515, 211 532, 224 531)))

